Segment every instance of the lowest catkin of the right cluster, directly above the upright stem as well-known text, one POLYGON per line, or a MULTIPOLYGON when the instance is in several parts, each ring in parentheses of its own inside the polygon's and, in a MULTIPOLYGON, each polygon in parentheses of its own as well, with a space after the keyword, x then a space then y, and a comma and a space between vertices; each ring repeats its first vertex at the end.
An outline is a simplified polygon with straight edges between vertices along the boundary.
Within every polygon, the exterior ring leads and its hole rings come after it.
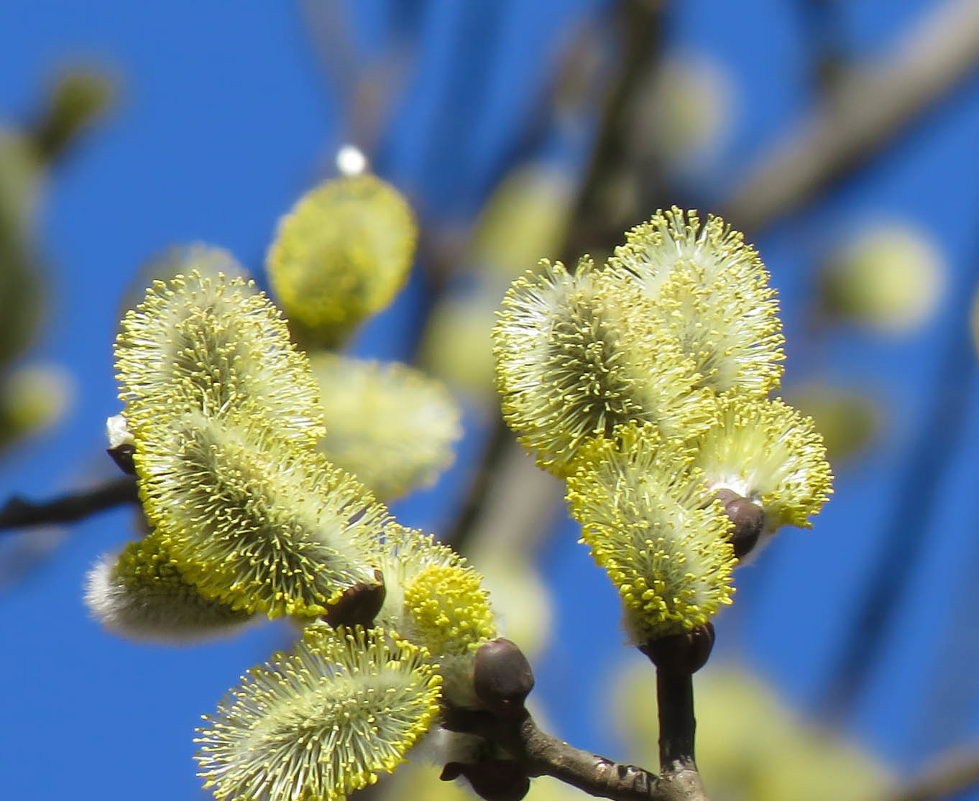
POLYGON ((692 454, 652 426, 597 440, 568 479, 582 541, 622 596, 637 642, 702 625, 731 602, 730 521, 692 454))

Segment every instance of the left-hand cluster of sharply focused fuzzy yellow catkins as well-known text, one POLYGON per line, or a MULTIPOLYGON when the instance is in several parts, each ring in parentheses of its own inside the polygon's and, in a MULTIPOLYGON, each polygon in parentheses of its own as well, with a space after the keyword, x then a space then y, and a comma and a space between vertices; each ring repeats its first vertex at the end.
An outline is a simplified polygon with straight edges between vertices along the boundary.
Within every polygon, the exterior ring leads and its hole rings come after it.
MULTIPOLYGON (((134 449, 149 531, 93 570, 93 613, 157 640, 261 615, 306 629, 201 729, 201 775, 218 798, 341 799, 403 762, 442 703, 476 701, 475 653, 496 636, 481 577, 399 526, 328 459, 346 451, 324 439, 324 422, 340 421, 342 436, 344 421, 356 430, 353 415, 321 401, 309 359, 264 295, 220 274, 157 282, 123 320, 116 356, 125 410, 112 431, 134 449)), ((363 369, 345 373, 330 358, 333 381, 363 369)), ((447 396, 407 368, 372 381, 408 387, 416 405, 434 397, 455 425, 447 396)), ((390 472, 377 480, 403 491, 434 469, 424 462, 396 487, 390 472)))

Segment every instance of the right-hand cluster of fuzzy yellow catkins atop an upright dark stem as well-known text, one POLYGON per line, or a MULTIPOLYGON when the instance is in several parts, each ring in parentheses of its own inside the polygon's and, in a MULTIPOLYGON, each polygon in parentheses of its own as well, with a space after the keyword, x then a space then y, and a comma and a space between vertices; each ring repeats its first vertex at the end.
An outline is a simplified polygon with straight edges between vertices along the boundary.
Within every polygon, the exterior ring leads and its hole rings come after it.
POLYGON ((809 525, 830 492, 812 421, 770 398, 768 273, 717 217, 674 208, 601 267, 542 263, 507 292, 494 342, 504 417, 567 479, 637 642, 706 623, 731 602, 736 551, 809 525))

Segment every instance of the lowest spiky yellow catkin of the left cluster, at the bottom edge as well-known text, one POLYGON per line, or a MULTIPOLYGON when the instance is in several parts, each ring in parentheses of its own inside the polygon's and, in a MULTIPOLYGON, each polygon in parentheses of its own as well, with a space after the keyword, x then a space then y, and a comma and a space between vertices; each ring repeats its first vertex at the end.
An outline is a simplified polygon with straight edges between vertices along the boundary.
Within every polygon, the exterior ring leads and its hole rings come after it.
POLYGON ((311 626, 205 718, 199 774, 222 801, 340 801, 404 761, 438 714, 440 686, 424 648, 381 629, 311 626))

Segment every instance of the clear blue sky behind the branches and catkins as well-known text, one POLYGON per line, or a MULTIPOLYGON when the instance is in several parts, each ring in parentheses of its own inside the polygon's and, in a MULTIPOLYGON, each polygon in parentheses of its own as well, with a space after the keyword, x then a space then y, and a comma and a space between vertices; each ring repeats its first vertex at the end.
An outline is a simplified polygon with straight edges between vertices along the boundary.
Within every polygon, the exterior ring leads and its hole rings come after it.
MULTIPOLYGON (((355 48, 366 59, 390 44, 395 18, 388 3, 357 5, 355 48)), ((857 61, 886 51, 933 5, 843 4, 847 51, 857 61)), ((466 219, 532 110, 561 37, 604 6, 419 6, 419 55, 381 137, 379 169, 427 213, 466 219)), ((75 403, 55 430, 0 463, 0 497, 45 496, 111 475, 101 455, 104 419, 118 411, 111 342, 136 267, 171 243, 206 241, 260 268, 278 216, 324 174, 348 133, 341 98, 324 80, 298 5, 177 0, 162 8, 118 0, 0 4, 0 121, 24 119, 46 79, 65 64, 106 65, 122 87, 109 119, 51 176, 38 232, 50 294, 48 324, 32 356, 74 373, 75 403)), ((786 0, 689 0, 678 4, 669 41, 709 54, 733 87, 730 135, 714 165, 714 194, 704 199, 717 202, 811 99, 807 32, 786 0)), ((869 385, 888 408, 882 446, 840 473, 814 531, 786 532, 747 569, 726 641, 719 624, 722 651, 747 659, 802 705, 818 706, 861 576, 893 531, 887 521, 897 480, 938 408, 943 349, 967 335, 979 259, 977 133, 979 83, 971 80, 852 179, 757 242, 782 297, 789 379, 818 373, 869 385), (812 256, 876 218, 922 227, 946 261, 949 291, 912 338, 881 341, 846 329, 814 353, 802 323, 812 256)), ((572 166, 580 150, 559 132, 549 147, 572 166)), ((362 348, 398 353, 412 302, 409 293, 362 348)), ((979 475, 975 371, 951 380, 965 384, 966 421, 925 521, 927 548, 909 592, 894 599, 898 624, 873 689, 848 721, 855 736, 902 765, 935 750, 946 728, 962 735, 979 728, 975 693, 966 708, 952 710, 954 719, 936 718, 928 706, 949 703, 928 695, 932 680, 951 663, 969 664, 968 653, 974 660, 979 649, 964 637, 951 662, 943 656, 947 626, 970 620, 977 599, 964 588, 979 567, 971 508, 979 475)), ((428 506, 409 508, 438 519, 430 508, 449 502, 431 495, 428 506)), ((199 716, 285 642, 275 626, 192 649, 136 645, 100 631, 82 606, 83 577, 100 553, 126 539, 129 517, 117 511, 73 527, 0 594, 0 774, 11 797, 195 797, 191 732, 199 716)), ((623 636, 600 623, 617 621, 616 599, 575 533, 563 529, 542 557, 559 611, 558 645, 538 666, 540 692, 563 736, 610 750, 614 739, 594 726, 601 696, 581 693, 577 676, 607 675, 617 661, 623 636)))

